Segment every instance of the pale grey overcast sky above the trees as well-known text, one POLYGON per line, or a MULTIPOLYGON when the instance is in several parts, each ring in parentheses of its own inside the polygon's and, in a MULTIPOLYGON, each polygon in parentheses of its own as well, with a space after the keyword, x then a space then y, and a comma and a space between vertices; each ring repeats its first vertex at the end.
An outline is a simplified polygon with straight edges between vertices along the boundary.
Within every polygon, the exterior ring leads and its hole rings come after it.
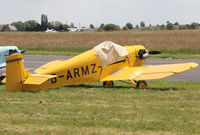
POLYGON ((144 21, 146 25, 200 22, 200 0, 0 0, 0 24, 36 20, 75 26, 98 27, 101 23, 124 26, 144 21))

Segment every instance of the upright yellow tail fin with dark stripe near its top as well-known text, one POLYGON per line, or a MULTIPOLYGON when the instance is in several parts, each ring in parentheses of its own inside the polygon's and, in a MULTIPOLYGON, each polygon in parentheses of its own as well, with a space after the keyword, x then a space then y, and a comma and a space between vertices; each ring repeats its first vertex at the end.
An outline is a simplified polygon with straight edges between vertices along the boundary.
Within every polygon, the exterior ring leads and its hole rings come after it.
POLYGON ((22 55, 16 53, 6 57, 6 91, 19 92, 23 90, 23 81, 28 76, 24 69, 22 55))

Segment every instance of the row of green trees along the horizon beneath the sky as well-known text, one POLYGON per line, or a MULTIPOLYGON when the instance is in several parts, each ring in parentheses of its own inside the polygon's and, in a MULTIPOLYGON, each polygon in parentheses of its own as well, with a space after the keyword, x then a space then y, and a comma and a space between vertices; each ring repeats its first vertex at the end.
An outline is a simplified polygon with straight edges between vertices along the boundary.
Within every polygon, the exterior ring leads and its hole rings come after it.
MULTIPOLYGON (((74 26, 73 23, 69 24, 63 24, 60 21, 48 21, 48 17, 45 14, 41 15, 41 23, 38 23, 35 20, 28 20, 25 22, 17 21, 12 22, 11 25, 15 26, 18 31, 45 31, 47 28, 49 29, 55 29, 57 31, 69 31, 69 28, 77 28, 74 26)), ((3 26, 2 31, 4 30, 6 26, 3 26)), ((180 25, 178 22, 171 23, 169 21, 166 22, 166 24, 156 26, 152 26, 149 24, 148 26, 145 24, 144 21, 141 21, 139 25, 133 25, 132 23, 128 22, 126 25, 122 28, 120 28, 119 25, 116 24, 104 24, 102 23, 98 28, 95 28, 93 24, 90 24, 90 29, 97 30, 99 32, 101 31, 117 31, 117 30, 133 30, 133 29, 141 29, 141 30, 173 30, 173 29, 195 29, 199 28, 200 24, 193 22, 191 24, 184 24, 180 25)), ((85 27, 82 27, 81 29, 84 29, 85 27)))

